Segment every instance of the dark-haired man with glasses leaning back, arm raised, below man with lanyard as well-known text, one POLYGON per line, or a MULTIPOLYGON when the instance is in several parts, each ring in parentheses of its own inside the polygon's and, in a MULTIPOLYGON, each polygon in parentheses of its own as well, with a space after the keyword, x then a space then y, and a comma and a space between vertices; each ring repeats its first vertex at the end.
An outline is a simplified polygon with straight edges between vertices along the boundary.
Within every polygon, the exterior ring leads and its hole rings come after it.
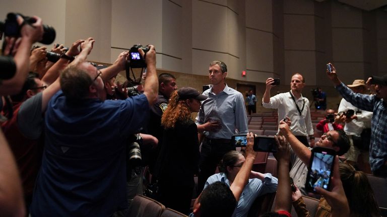
MULTIPOLYGON (((290 177, 293 178, 294 183, 298 186, 301 193, 308 195, 305 190, 306 176, 308 174, 308 165, 311 158, 311 149, 304 146, 290 131, 289 126, 284 121, 279 125, 280 134, 286 137, 292 148, 292 168, 290 170, 290 177)), ((332 148, 336 151, 337 155, 341 156, 345 154, 350 147, 348 136, 342 130, 333 130, 325 133, 315 143, 315 146, 332 148)))

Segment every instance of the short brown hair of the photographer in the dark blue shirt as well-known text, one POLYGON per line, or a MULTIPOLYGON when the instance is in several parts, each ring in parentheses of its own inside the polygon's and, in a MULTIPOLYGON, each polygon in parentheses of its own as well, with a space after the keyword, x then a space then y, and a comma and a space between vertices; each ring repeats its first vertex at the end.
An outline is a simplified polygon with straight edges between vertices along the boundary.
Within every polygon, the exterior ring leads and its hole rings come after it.
POLYGON ((92 83, 90 75, 79 69, 79 65, 70 66, 60 74, 60 87, 69 100, 86 98, 92 83))

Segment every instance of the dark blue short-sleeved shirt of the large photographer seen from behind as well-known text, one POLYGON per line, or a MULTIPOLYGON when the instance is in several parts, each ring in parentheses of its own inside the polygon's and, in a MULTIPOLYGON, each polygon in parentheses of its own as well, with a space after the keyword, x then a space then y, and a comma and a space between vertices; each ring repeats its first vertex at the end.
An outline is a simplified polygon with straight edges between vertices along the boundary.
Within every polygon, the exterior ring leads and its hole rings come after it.
POLYGON ((148 116, 144 94, 74 104, 56 93, 45 114, 32 216, 109 216, 125 208, 125 145, 148 116))

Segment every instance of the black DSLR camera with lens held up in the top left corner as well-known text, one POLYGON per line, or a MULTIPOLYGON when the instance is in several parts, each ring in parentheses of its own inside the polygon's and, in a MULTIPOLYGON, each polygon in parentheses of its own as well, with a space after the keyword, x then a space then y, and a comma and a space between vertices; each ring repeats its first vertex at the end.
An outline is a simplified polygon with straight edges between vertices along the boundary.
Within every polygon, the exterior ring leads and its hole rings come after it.
MULTIPOLYGON (((4 33, 5 36, 20 37, 20 29, 22 26, 19 26, 16 19, 17 16, 21 16, 24 19, 24 23, 27 25, 31 25, 36 22, 34 18, 26 17, 21 14, 9 13, 5 23, 0 21, 0 32, 4 33)), ((42 44, 51 44, 56 37, 55 29, 50 26, 43 25, 43 31, 43 39, 39 42, 42 44)))

